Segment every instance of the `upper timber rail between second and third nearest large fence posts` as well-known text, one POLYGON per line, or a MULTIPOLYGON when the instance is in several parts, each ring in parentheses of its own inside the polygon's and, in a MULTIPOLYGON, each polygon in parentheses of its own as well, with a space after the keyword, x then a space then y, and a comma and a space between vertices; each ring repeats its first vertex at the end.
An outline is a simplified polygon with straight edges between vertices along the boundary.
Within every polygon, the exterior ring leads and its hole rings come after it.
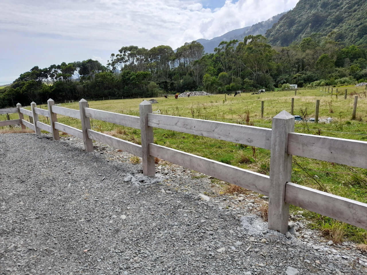
POLYGON ((138 116, 123 115, 120 113, 101 111, 92 108, 85 108, 84 113, 87 117, 140 129, 140 120, 138 116))

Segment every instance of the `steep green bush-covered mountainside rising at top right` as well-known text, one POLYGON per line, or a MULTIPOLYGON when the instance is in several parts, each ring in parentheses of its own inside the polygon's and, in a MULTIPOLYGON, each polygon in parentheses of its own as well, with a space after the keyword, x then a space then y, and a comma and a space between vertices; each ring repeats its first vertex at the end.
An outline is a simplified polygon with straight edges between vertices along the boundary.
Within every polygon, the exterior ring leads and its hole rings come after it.
POLYGON ((367 0, 300 0, 265 36, 273 46, 289 46, 313 33, 345 44, 367 43, 367 0))

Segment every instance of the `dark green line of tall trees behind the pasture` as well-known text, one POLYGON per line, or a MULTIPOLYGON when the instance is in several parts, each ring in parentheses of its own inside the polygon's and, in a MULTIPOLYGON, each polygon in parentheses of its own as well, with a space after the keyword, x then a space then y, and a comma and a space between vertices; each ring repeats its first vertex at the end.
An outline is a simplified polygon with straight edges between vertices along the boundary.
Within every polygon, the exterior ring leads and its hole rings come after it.
POLYGON ((185 90, 225 93, 274 90, 287 83, 342 85, 367 81, 367 45, 345 46, 320 34, 288 47, 272 47, 262 35, 222 41, 215 52, 193 41, 177 50, 122 47, 107 66, 88 59, 40 69, 34 66, 0 90, 0 107, 71 99, 155 97, 185 90))

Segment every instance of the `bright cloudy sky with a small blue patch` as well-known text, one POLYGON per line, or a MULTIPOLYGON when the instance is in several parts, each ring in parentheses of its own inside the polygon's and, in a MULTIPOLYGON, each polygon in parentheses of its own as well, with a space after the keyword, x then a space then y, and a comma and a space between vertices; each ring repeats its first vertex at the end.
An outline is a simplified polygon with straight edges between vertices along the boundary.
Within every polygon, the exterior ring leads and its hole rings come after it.
POLYGON ((173 49, 295 7, 298 0, 1 0, 0 85, 33 66, 89 58, 106 65, 123 46, 173 49))

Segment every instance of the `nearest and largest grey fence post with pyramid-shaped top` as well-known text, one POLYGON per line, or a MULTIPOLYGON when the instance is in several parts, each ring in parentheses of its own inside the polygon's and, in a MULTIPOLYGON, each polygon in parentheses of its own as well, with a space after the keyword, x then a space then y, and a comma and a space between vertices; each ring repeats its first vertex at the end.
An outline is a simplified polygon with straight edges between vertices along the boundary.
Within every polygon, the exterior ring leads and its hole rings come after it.
POLYGON ((270 151, 268 228, 282 234, 288 231, 289 204, 286 184, 291 181, 292 155, 288 155, 288 133, 294 131, 294 116, 281 111, 273 117, 270 151))

